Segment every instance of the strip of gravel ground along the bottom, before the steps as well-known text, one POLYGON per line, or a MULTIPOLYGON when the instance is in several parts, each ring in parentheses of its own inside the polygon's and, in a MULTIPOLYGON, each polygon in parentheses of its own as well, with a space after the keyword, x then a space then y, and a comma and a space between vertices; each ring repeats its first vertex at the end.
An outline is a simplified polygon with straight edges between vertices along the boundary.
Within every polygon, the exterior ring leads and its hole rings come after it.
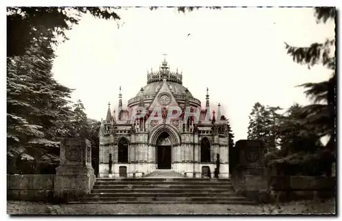
POLYGON ((297 201, 280 205, 62 204, 8 201, 7 213, 19 214, 334 214, 335 201, 297 201))

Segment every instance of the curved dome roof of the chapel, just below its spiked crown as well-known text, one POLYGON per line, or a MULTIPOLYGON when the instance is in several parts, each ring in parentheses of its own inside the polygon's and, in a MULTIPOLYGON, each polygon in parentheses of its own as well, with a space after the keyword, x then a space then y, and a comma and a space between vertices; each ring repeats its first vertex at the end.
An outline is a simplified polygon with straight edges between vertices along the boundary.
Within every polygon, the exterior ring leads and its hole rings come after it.
MULTIPOLYGON (((187 88, 185 88, 183 85, 181 85, 181 83, 166 81, 166 84, 168 85, 168 88, 170 89, 172 94, 179 94, 179 95, 185 95, 186 94, 187 88)), ((142 90, 140 90, 137 93, 137 96, 141 96, 142 94, 143 95, 156 94, 162 85, 163 85, 163 81, 150 82, 146 86, 144 86, 142 88, 142 90)), ((187 91, 187 93, 188 93, 189 97, 192 97, 191 92, 187 91)))

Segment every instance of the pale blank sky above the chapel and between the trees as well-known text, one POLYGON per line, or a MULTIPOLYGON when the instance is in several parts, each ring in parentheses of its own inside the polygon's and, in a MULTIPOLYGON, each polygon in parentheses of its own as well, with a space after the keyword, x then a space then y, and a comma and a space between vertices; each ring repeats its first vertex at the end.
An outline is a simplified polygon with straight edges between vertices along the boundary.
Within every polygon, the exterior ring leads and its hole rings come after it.
POLYGON ((54 77, 75 89, 72 100, 81 99, 89 118, 105 118, 108 102, 117 109, 120 86, 126 107, 146 85, 147 70, 161 65, 163 53, 171 70, 183 70, 183 86, 202 107, 209 88, 211 106, 222 105, 235 141, 247 138, 254 103, 284 109, 311 103, 295 86, 331 75, 322 66, 296 64, 285 49, 285 42, 305 47, 334 38, 334 23, 317 24, 311 8, 116 12, 120 21, 84 15, 56 49, 54 77))

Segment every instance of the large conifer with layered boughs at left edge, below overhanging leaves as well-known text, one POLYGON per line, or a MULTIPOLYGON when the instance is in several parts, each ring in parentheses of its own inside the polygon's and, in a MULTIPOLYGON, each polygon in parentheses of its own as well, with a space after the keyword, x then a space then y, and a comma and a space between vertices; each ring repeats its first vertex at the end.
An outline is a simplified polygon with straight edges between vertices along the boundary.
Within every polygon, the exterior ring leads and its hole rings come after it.
POLYGON ((52 57, 44 57, 49 55, 35 46, 23 56, 8 58, 8 151, 23 152, 25 144, 56 146, 51 138, 64 135, 68 125, 66 99, 72 90, 53 79, 52 57))

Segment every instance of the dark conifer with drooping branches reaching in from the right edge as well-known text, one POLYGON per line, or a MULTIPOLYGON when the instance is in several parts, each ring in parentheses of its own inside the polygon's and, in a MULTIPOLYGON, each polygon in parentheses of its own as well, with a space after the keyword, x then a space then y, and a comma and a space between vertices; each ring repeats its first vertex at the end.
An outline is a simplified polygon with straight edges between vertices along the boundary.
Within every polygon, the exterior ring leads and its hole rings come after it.
MULTIPOLYGON (((317 23, 326 23, 334 19, 336 12, 334 8, 315 8, 317 23)), ((312 129, 320 136, 329 135, 330 139, 326 145, 331 150, 335 149, 335 127, 336 127, 336 86, 337 76, 335 72, 334 57, 335 39, 326 42, 314 42, 309 47, 293 47, 285 43, 287 53, 293 57, 298 64, 306 64, 308 68, 321 64, 331 70, 332 76, 328 81, 319 83, 304 83, 308 96, 313 104, 306 105, 300 109, 304 115, 303 120, 311 125, 312 129)))

